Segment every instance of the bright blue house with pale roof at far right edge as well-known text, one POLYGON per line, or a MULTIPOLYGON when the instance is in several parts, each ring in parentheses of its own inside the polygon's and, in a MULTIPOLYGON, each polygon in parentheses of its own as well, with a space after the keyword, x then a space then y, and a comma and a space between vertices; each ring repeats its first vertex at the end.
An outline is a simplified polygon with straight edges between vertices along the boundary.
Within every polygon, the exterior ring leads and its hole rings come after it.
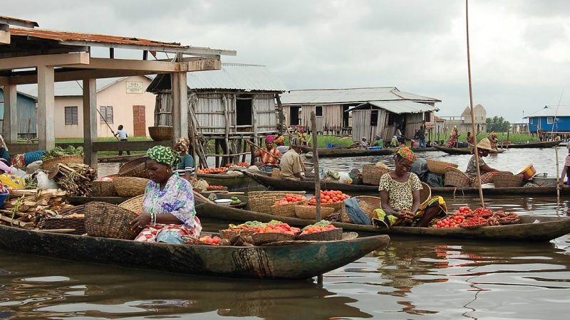
POLYGON ((567 105, 547 105, 525 118, 529 119, 531 133, 537 133, 539 129, 544 132, 570 132, 570 106, 567 105))

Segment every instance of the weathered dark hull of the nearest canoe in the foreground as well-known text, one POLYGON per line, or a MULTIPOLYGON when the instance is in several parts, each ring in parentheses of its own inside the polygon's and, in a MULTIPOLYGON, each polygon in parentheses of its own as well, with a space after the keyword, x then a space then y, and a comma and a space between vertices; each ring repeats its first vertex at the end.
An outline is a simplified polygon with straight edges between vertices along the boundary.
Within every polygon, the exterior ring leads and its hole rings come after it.
POLYGON ((0 250, 80 262, 215 277, 309 279, 388 244, 380 235, 296 245, 174 245, 65 235, 0 225, 0 250))

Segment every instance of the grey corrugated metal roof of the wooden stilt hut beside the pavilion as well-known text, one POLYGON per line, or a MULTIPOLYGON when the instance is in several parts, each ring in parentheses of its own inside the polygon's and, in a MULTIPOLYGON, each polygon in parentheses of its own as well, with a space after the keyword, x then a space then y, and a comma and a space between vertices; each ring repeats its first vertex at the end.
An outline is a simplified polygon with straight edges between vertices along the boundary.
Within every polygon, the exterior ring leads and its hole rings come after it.
POLYGON ((244 91, 278 91, 287 87, 264 65, 222 63, 220 70, 187 74, 190 89, 225 89, 244 91))

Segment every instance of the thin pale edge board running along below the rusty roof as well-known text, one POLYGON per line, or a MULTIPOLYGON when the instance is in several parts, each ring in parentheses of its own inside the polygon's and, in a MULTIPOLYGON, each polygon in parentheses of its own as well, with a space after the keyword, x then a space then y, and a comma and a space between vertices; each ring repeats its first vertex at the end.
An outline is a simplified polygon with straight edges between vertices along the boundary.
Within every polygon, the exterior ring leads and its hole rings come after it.
POLYGON ((127 43, 103 43, 94 41, 78 41, 78 40, 67 40, 59 41, 62 45, 68 46, 93 46, 93 47, 103 47, 103 48, 118 48, 118 49, 131 49, 131 50, 149 50, 167 53, 185 53, 187 55, 237 55, 236 50, 221 50, 221 49, 211 49, 202 47, 190 47, 190 46, 144 46, 144 45, 133 45, 127 43))

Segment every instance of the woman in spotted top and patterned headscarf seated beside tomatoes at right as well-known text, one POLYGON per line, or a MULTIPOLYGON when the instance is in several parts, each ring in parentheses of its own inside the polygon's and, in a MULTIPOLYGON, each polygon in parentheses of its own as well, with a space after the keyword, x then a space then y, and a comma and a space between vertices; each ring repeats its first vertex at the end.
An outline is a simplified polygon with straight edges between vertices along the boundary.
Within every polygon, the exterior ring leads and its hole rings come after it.
POLYGON ((433 218, 445 216, 447 207, 445 201, 439 196, 432 197, 421 203, 420 178, 410 172, 416 156, 408 147, 398 149, 394 156, 396 168, 380 178, 380 198, 382 208, 375 210, 378 218, 374 218, 375 225, 414 225, 416 227, 429 226, 433 218))

